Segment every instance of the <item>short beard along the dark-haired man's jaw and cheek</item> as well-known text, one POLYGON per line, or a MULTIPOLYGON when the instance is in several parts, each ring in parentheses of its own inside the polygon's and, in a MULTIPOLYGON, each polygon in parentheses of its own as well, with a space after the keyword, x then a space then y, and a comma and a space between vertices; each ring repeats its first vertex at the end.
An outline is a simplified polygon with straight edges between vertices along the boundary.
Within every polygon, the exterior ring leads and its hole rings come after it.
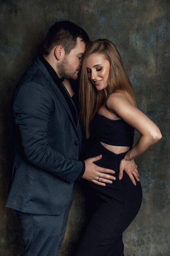
POLYGON ((58 75, 60 78, 76 80, 78 77, 77 70, 68 63, 67 58, 64 57, 62 63, 57 65, 58 75))

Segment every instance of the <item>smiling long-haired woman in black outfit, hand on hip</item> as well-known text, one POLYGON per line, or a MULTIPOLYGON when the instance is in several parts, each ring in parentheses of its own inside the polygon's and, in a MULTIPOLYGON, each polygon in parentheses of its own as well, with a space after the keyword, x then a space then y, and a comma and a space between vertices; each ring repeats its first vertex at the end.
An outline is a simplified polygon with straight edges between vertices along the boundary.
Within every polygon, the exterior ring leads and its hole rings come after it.
POLYGON ((161 139, 161 132, 137 108, 121 57, 109 40, 88 45, 82 60, 80 96, 81 118, 86 138, 90 137, 85 159, 102 154, 96 164, 113 169, 116 180, 110 184, 102 177, 96 177, 96 184, 83 181, 92 211, 76 256, 124 256, 122 233, 142 200, 135 157, 161 139), (132 147, 134 129, 141 136, 132 147))

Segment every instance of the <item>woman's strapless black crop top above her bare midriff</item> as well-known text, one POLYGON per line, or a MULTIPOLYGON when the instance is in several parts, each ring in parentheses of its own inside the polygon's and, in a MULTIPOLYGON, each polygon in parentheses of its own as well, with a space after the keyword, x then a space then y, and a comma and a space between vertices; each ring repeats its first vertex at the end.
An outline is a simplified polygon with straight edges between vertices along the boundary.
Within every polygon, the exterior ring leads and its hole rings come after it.
POLYGON ((96 113, 91 123, 91 136, 103 143, 113 146, 132 148, 134 128, 123 119, 110 120, 96 113))

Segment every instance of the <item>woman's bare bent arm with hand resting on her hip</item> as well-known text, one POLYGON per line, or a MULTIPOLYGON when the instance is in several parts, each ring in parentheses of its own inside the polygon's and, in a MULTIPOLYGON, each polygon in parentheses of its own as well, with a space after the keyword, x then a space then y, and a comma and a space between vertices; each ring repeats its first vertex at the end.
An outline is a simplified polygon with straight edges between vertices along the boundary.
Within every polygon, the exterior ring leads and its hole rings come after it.
POLYGON ((119 180, 123 177, 123 171, 125 170, 133 184, 136 185, 133 176, 137 178, 139 174, 134 158, 144 153, 161 139, 161 132, 152 120, 130 103, 124 93, 115 92, 110 94, 106 101, 106 106, 110 112, 114 112, 118 117, 124 119, 141 134, 135 146, 121 160, 119 172, 119 180))

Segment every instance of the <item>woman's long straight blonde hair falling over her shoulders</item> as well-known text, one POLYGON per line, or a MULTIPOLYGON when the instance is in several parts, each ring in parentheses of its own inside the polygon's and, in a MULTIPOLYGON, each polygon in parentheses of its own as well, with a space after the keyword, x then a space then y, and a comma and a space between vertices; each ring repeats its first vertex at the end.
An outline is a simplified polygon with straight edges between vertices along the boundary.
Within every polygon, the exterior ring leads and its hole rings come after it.
MULTIPOLYGON (((97 110, 104 104, 104 90, 98 91, 93 83, 88 79, 86 69, 86 58, 97 53, 103 54, 110 62, 110 72, 108 76, 109 92, 122 90, 127 92, 132 104, 136 105, 135 94, 132 85, 126 74, 121 56, 115 45, 107 39, 98 39, 89 43, 82 59, 82 69, 80 74, 80 118, 82 120, 86 138, 90 136, 90 124, 97 110), (110 90, 111 89, 111 90, 110 90)), ((107 88, 105 90, 107 90, 107 88)))

